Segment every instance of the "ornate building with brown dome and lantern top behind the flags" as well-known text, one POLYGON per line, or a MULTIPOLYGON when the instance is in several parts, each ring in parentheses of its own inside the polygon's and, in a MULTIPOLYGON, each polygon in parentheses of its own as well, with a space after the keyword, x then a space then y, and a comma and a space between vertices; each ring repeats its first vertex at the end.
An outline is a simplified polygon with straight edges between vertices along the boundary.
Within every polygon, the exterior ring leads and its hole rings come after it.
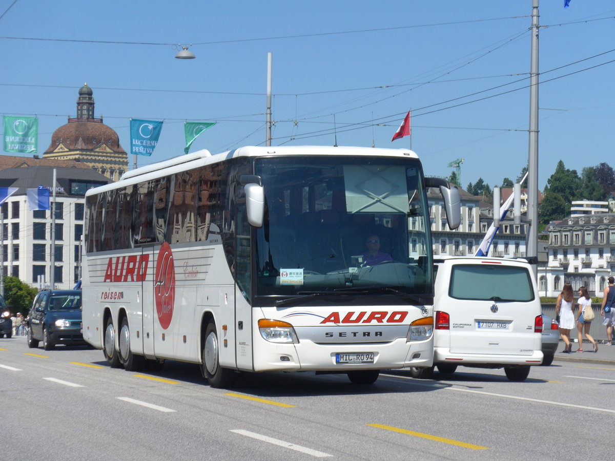
POLYGON ((77 117, 55 130, 44 159, 78 160, 112 181, 128 170, 128 155, 115 130, 94 117, 92 89, 84 84, 77 98, 77 117))

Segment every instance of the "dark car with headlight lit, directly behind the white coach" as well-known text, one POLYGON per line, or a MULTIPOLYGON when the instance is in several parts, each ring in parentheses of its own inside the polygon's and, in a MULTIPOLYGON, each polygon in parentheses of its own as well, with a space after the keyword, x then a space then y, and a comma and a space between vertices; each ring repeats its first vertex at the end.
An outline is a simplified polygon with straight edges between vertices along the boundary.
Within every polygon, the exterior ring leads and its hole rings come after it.
POLYGON ((85 345, 81 332, 81 290, 43 290, 34 298, 28 320, 28 346, 85 345))

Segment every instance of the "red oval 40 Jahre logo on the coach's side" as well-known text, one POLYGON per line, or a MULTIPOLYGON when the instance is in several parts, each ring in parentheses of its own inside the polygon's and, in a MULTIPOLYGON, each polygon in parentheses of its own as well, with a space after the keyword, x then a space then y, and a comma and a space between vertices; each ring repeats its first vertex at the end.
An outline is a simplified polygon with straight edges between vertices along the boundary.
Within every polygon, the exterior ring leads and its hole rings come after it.
POLYGON ((156 312, 162 329, 169 328, 175 305, 175 264, 169 243, 164 242, 158 252, 154 278, 156 312))

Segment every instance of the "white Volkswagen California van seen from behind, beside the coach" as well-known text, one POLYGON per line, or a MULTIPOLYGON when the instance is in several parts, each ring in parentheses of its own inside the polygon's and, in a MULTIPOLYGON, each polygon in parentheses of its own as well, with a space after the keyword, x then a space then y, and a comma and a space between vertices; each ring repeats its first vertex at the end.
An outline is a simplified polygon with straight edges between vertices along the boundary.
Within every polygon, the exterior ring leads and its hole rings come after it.
MULTIPOLYGON (((531 266, 522 259, 434 259, 434 366, 504 368, 523 381, 542 363, 542 315, 531 266)), ((413 368, 429 378, 434 367, 413 368)))

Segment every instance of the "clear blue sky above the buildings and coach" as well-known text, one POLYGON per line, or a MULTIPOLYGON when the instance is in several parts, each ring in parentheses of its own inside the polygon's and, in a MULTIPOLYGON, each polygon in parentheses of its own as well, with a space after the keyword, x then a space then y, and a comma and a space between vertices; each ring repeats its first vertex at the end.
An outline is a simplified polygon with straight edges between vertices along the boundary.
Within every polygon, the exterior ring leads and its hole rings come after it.
MULTIPOLYGON (((191 151, 264 144, 272 52, 272 145, 333 145, 335 116, 338 145, 411 143, 427 175, 463 157, 464 188, 499 185, 528 158, 531 4, 0 0, 0 112, 39 117, 41 155, 87 82, 127 151, 131 117, 164 120, 140 166, 183 154, 186 119, 217 122, 191 151), (411 140, 391 142, 410 108, 411 140)), ((560 159, 614 163, 615 3, 563 4, 539 10, 540 189, 560 159)))

